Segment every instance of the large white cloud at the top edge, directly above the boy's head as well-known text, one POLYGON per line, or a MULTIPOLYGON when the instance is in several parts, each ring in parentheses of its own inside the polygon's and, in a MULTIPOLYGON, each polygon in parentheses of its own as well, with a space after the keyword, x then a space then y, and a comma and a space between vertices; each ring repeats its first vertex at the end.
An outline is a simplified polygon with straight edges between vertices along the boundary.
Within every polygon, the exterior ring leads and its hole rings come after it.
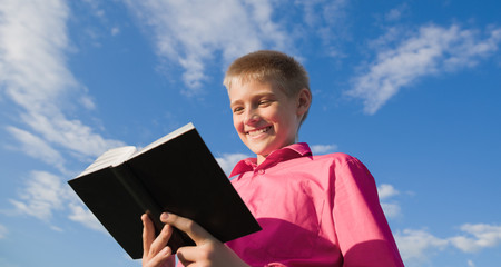
POLYGON ((262 47, 285 49, 286 33, 272 20, 269 1, 126 0, 139 21, 153 29, 157 53, 184 68, 183 93, 200 92, 206 62, 225 61, 262 47))

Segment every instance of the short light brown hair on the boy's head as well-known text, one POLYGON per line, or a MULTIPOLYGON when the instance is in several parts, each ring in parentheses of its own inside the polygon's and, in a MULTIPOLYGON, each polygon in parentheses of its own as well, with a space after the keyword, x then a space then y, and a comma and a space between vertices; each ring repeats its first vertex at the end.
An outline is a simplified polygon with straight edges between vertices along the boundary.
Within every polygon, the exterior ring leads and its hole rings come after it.
MULTIPOLYGON (((234 82, 271 82, 286 96, 295 97, 303 89, 310 90, 308 72, 293 57, 273 50, 259 50, 237 58, 226 71, 223 83, 226 89, 234 82)), ((301 122, 306 119, 307 111, 301 122)))

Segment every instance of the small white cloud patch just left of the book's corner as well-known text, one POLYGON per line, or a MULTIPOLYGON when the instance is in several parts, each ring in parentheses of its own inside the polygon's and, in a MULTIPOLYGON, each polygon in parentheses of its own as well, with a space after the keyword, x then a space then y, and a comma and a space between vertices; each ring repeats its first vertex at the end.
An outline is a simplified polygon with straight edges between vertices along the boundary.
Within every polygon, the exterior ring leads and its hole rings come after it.
POLYGON ((63 209, 67 194, 59 177, 46 171, 32 171, 19 192, 20 200, 10 199, 10 202, 18 212, 48 221, 53 210, 63 209))

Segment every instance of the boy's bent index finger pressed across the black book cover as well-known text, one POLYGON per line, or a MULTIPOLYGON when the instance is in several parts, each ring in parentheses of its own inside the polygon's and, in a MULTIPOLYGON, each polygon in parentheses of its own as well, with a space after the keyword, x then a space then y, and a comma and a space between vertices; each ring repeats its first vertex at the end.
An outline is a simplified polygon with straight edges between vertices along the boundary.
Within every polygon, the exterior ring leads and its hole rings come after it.
POLYGON ((200 245, 206 240, 214 239, 214 237, 202 226, 188 218, 164 212, 161 214, 160 220, 186 233, 195 241, 196 245, 200 245))

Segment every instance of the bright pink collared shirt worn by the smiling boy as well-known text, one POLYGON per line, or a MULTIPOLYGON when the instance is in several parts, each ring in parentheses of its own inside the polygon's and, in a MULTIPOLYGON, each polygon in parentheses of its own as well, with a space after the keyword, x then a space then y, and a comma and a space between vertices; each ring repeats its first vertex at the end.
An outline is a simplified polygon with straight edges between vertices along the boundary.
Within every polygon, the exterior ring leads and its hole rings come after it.
POLYGON ((403 266, 374 178, 345 154, 306 144, 238 162, 236 190, 263 227, 227 243, 250 266, 403 266))

